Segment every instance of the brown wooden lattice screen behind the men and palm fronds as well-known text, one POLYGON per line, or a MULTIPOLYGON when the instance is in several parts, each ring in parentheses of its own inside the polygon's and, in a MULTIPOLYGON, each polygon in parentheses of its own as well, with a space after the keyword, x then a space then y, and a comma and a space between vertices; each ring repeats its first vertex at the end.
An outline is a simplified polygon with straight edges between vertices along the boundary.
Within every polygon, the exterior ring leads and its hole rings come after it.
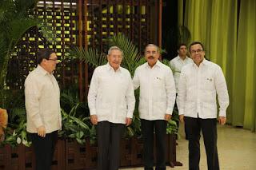
POLYGON ((159 4, 158 0, 39 1, 34 15, 52 33, 34 27, 24 34, 10 60, 7 85, 22 89, 27 74, 36 67, 38 50, 47 46, 55 49, 62 60, 55 73, 60 86, 79 84, 80 97, 84 97, 90 71, 86 64, 64 59, 65 53, 73 45, 106 53, 107 38, 119 32, 126 34, 141 52, 148 43, 158 44, 159 4))

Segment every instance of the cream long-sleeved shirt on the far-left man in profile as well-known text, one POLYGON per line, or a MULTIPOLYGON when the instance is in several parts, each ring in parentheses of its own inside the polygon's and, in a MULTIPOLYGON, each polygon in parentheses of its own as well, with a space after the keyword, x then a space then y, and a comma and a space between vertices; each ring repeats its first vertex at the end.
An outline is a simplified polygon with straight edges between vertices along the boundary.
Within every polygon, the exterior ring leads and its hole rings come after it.
POLYGON ((46 133, 62 128, 58 82, 40 65, 26 77, 25 101, 27 132, 37 132, 42 125, 46 133))

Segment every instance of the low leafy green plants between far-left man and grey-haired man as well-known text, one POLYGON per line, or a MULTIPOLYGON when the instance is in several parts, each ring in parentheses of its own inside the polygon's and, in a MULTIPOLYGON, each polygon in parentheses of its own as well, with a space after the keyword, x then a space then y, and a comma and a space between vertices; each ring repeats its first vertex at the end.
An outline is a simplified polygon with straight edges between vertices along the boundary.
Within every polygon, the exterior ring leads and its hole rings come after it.
POLYGON ((71 88, 63 90, 61 107, 62 131, 58 132, 58 136, 77 140, 79 144, 84 144, 86 138, 90 137, 90 142, 94 143, 95 127, 90 123, 87 104, 79 101, 77 87, 71 86, 71 88))

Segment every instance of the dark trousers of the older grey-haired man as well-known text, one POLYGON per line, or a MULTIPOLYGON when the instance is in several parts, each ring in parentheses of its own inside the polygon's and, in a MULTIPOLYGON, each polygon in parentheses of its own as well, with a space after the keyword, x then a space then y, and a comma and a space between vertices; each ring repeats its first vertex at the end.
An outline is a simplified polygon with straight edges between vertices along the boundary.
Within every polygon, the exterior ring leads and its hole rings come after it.
POLYGON ((118 170, 120 143, 125 125, 100 121, 96 126, 98 138, 98 170, 118 170))

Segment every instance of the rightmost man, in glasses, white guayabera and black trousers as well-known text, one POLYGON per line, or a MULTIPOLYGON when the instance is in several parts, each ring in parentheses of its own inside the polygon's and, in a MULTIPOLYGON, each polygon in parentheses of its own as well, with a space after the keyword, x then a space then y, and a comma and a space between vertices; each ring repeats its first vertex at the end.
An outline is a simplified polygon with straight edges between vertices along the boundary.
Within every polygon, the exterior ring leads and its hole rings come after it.
POLYGON ((224 125, 229 105, 226 81, 220 66, 205 59, 201 42, 190 44, 190 54, 194 62, 182 68, 177 97, 180 121, 185 121, 189 140, 189 167, 199 169, 202 131, 208 170, 218 170, 216 94, 220 106, 218 121, 224 125))

